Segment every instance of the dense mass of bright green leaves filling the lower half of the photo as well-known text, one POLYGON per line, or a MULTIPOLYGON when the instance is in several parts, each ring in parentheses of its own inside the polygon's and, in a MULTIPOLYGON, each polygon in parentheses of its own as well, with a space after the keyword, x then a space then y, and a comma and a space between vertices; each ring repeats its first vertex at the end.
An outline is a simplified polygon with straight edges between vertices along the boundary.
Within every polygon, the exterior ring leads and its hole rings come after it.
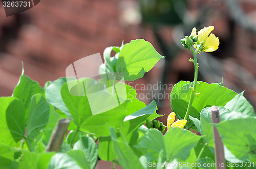
MULTIPOLYGON (((165 164, 178 162, 215 163, 210 116, 213 105, 220 112, 221 123, 214 126, 222 137, 226 160, 256 163, 255 112, 244 92, 237 94, 222 82, 199 82, 186 129, 174 127, 163 134, 164 124, 155 120, 163 115, 157 114, 154 100, 145 105, 127 84, 121 92, 112 91, 122 78, 142 78, 163 57, 143 39, 108 47, 103 57, 105 62, 99 68, 102 79, 78 80, 90 86, 83 96, 70 94, 79 92, 79 86, 69 89, 69 82, 77 82, 74 78, 59 78, 42 88, 23 70, 13 96, 0 98, 0 168, 87 169, 95 168, 99 160, 112 161, 113 168, 115 164, 123 168, 166 168, 165 164), (105 76, 113 72, 120 74, 105 76), (104 90, 109 84, 112 86, 104 90), (89 94, 98 90, 104 96, 99 94, 89 102, 89 94), (118 106, 105 102, 117 97, 122 101, 118 106), (93 114, 97 107, 102 111, 93 114), (68 134, 59 152, 45 152, 60 118, 71 119, 68 134), (187 129, 195 129, 202 136, 187 129)), ((193 84, 180 81, 170 92, 172 110, 179 119, 186 113, 193 84)))

